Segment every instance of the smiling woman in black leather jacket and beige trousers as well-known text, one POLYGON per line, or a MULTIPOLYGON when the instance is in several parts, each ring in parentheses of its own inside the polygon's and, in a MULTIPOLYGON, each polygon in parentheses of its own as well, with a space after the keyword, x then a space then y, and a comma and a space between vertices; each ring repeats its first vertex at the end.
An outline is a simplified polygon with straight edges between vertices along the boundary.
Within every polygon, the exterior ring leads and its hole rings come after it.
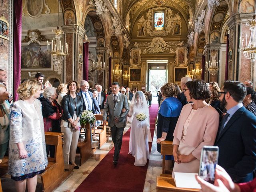
POLYGON ((78 169, 75 158, 81 127, 79 120, 82 116, 83 100, 77 95, 78 83, 76 81, 70 81, 67 88, 68 93, 61 102, 63 109, 61 132, 64 133, 63 157, 64 164, 72 164, 75 169, 78 169))

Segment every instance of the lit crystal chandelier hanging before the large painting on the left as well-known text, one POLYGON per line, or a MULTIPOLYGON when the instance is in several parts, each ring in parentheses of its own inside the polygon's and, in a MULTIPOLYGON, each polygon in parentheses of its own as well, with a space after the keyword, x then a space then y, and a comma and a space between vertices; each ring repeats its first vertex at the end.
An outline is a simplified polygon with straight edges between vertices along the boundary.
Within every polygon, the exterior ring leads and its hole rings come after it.
POLYGON ((50 43, 47 41, 47 50, 52 55, 53 62, 63 61, 65 56, 68 54, 68 44, 66 43, 66 52, 61 44, 61 36, 64 34, 62 30, 57 27, 57 29, 52 30, 54 32, 54 38, 52 40, 52 49, 50 49, 50 43))

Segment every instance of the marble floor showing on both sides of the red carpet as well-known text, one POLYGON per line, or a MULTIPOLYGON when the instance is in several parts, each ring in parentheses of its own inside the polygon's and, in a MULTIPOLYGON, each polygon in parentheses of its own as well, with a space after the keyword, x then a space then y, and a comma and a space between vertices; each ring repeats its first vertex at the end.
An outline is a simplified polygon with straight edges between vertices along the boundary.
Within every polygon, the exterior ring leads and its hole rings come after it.
MULTIPOLYGON (((126 126, 124 133, 130 128, 126 126)), ((97 149, 92 157, 90 157, 79 169, 74 169, 74 173, 70 178, 63 182, 54 192, 73 192, 82 183, 82 181, 92 172, 99 162, 108 154, 114 146, 111 138, 108 142, 97 149)), ((146 174, 143 192, 156 192, 156 177, 162 173, 162 159, 156 150, 156 135, 154 134, 153 144, 151 148, 150 160, 146 174)), ((4 192, 15 192, 14 182, 10 179, 10 175, 1 175, 4 192)), ((40 177, 38 177, 38 186, 36 192, 42 190, 40 177)))

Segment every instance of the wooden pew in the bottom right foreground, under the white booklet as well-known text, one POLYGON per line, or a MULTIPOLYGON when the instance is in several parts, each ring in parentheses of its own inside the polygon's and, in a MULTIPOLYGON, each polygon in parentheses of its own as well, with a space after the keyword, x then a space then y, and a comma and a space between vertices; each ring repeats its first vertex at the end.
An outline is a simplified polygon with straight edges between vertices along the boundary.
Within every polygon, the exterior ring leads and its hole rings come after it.
POLYGON ((156 192, 199 192, 200 189, 177 188, 173 178, 161 177, 156 178, 156 192))

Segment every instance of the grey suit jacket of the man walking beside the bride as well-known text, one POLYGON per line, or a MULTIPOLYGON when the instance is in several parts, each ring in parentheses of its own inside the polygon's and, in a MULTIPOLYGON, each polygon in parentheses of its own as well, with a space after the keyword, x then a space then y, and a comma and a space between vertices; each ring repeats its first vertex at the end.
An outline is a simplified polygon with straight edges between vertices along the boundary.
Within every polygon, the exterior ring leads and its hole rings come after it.
POLYGON ((126 115, 129 111, 129 105, 126 95, 118 93, 116 104, 114 105, 113 94, 110 94, 106 99, 106 104, 103 110, 103 120, 107 120, 108 115, 108 126, 113 127, 125 127, 126 126, 126 115), (126 112, 122 112, 122 108, 126 109, 126 112), (119 118, 119 122, 115 122, 115 118, 119 118))

